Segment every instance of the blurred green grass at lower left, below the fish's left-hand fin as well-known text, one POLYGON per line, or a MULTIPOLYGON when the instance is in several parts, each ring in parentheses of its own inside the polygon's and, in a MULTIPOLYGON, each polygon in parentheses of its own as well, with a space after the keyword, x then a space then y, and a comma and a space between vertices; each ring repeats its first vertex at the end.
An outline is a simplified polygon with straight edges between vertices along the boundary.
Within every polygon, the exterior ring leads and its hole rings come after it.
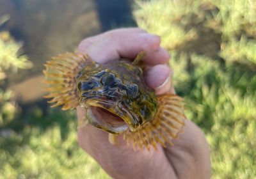
POLYGON ((35 109, 1 132, 0 178, 109 178, 78 147, 72 112, 51 110, 42 118, 35 109))

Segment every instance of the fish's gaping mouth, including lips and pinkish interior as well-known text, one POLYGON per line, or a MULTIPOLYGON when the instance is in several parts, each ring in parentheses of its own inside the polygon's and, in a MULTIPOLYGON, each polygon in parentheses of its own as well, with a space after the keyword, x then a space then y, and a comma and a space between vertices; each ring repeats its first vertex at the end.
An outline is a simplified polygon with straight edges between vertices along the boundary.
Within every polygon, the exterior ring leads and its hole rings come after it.
POLYGON ((87 111, 89 123, 112 134, 121 134, 126 130, 134 131, 140 126, 138 117, 119 102, 90 98, 81 100, 80 104, 87 111))

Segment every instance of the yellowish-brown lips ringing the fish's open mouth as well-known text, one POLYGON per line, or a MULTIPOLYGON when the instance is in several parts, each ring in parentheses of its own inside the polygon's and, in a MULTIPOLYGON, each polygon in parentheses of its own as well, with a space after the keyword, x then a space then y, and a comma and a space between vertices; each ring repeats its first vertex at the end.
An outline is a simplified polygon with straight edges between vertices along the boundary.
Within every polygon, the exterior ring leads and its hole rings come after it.
POLYGON ((81 98, 80 105, 81 107, 84 107, 86 109, 89 123, 97 128, 102 128, 103 130, 106 130, 112 134, 121 134, 122 132, 125 132, 127 130, 135 131, 136 128, 140 126, 140 123, 138 122, 138 116, 127 110, 120 102, 106 100, 105 98, 102 99, 99 98, 99 96, 92 96, 89 98, 81 98), (100 107, 102 109, 106 109, 110 113, 113 113, 113 111, 108 109, 108 107, 111 107, 111 109, 115 109, 115 111, 124 113, 124 116, 118 115, 116 113, 113 114, 116 114, 116 116, 124 120, 125 125, 122 125, 120 127, 111 127, 109 125, 106 125, 103 120, 95 118, 95 116, 93 115, 92 107, 100 107))

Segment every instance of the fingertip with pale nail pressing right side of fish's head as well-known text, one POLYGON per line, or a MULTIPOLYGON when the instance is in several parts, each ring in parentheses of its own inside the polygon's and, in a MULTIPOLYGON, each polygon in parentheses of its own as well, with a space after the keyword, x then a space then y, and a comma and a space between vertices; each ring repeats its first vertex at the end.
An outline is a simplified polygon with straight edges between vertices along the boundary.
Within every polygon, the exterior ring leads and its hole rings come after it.
POLYGON ((168 65, 156 65, 145 72, 145 80, 156 95, 175 93, 172 86, 172 71, 168 65))

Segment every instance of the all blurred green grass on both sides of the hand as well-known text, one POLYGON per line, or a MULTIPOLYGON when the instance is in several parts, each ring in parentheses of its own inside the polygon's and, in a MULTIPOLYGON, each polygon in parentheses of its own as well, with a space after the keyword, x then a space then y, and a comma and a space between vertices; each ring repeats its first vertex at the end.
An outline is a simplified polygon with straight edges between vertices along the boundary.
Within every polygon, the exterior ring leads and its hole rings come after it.
MULTIPOLYGON (((151 0, 134 9, 138 25, 172 54, 186 115, 211 146, 212 178, 256 178, 255 1, 151 0)), ((74 112, 20 114, 6 84, 31 67, 21 46, 0 32, 0 178, 109 178, 78 148, 74 112)))

